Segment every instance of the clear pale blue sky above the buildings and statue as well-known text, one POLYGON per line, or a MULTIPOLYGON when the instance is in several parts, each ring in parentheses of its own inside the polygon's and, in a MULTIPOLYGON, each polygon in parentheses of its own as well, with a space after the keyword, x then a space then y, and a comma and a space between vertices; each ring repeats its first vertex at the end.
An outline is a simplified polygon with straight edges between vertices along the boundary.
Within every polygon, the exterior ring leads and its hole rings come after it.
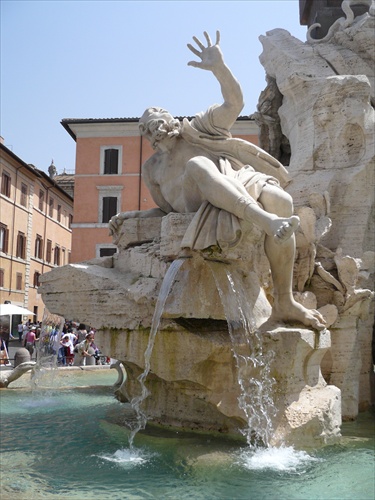
POLYGON ((258 37, 275 28, 305 41, 298 0, 1 0, 4 144, 47 171, 74 170, 63 118, 141 116, 148 106, 193 115, 221 102, 212 74, 190 66, 192 36, 221 32, 225 60, 256 109, 265 87, 258 37))

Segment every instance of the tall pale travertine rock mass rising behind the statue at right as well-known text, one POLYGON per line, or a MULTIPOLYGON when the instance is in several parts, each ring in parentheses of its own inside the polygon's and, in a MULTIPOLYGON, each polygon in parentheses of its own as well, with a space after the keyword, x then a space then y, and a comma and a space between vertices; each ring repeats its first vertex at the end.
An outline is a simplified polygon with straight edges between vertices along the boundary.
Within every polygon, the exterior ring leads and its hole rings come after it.
MULTIPOLYGON (((301 218, 295 290, 334 304, 327 380, 342 390, 344 418, 374 402, 374 7, 303 43, 276 29, 260 57, 282 94, 278 116, 290 142, 288 192, 301 218)), ((311 29, 313 26, 311 27, 311 29)), ((276 101, 279 103, 280 98, 276 101)))

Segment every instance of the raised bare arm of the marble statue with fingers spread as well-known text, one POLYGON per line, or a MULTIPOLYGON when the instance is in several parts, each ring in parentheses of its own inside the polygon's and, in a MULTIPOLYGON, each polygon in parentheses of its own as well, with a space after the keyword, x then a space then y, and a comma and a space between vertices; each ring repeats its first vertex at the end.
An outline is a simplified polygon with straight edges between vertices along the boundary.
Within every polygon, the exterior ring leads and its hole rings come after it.
POLYGON ((215 108, 213 118, 215 126, 229 130, 237 120, 244 106, 241 86, 224 62, 223 53, 219 45, 220 32, 216 32, 216 43, 214 45, 206 31, 204 32, 204 36, 207 41, 207 47, 195 36, 193 40, 199 47, 199 50, 190 43, 188 44, 188 48, 193 54, 201 59, 201 61, 190 61, 188 65, 211 71, 217 78, 221 86, 224 102, 215 108))

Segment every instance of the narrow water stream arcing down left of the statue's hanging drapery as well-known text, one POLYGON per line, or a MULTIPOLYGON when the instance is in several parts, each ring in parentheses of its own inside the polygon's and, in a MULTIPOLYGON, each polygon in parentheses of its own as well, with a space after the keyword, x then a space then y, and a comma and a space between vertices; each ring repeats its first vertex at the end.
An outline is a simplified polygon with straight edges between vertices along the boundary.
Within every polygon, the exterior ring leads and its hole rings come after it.
POLYGON ((163 280, 161 288, 160 288, 159 296, 158 296, 156 306, 155 306, 154 315, 152 318, 152 324, 151 324, 150 336, 148 339, 148 345, 147 345, 147 349, 145 351, 145 368, 144 368, 143 373, 141 373, 141 375, 137 379, 141 385, 141 394, 139 396, 135 396, 130 401, 132 408, 135 410, 135 412, 137 414, 137 418, 136 418, 135 422, 130 424, 131 425, 131 433, 129 436, 130 448, 132 448, 132 446, 133 446, 134 437, 137 434, 137 432, 144 429, 146 427, 146 424, 147 424, 147 415, 142 410, 141 406, 142 406, 143 401, 150 394, 150 391, 147 389, 145 382, 146 382, 147 375, 149 374, 150 369, 151 369, 150 361, 151 361, 151 355, 152 355, 152 351, 153 351, 154 344, 155 344, 155 337, 156 337, 156 333, 159 329, 161 315, 163 313, 164 306, 165 306, 165 303, 166 303, 167 298, 169 296, 169 293, 171 291, 175 277, 176 277, 180 267, 185 262, 185 260, 186 259, 176 259, 172 262, 172 264, 169 266, 169 268, 164 276, 164 280, 163 280))

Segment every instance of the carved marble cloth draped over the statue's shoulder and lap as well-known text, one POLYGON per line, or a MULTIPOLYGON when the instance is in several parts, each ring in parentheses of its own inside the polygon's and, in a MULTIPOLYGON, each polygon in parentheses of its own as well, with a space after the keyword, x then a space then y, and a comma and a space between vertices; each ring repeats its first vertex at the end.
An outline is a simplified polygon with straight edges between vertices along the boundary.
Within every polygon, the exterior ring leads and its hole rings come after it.
MULTIPOLYGON (((190 144, 206 149, 210 155, 214 154, 219 172, 237 179, 255 201, 266 183, 285 187, 290 179, 278 160, 258 146, 233 138, 228 130, 215 126, 213 111, 217 106, 198 113, 191 122, 185 118, 182 137, 190 144)), ((205 201, 187 228, 181 247, 204 250, 218 245, 225 250, 238 245, 241 238, 238 217, 205 201)))

